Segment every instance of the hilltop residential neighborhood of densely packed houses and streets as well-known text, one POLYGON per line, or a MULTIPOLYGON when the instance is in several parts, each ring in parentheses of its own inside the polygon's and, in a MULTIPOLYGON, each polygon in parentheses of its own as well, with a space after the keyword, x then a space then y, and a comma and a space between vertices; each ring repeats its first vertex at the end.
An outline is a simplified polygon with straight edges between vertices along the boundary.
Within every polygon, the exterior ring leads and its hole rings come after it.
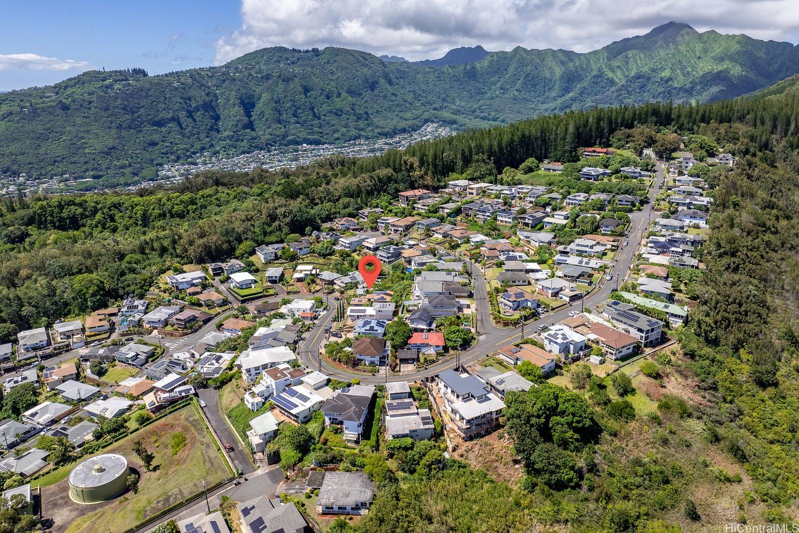
POLYGON ((365 515, 379 483, 364 457, 466 458, 498 445, 518 395, 575 368, 629 373, 670 344, 704 267, 707 169, 687 152, 585 148, 578 163, 455 176, 305 235, 245 241, 236 257, 172 265, 114 307, 0 347, 3 392, 24 406, 0 422, 0 471, 42 498, 55 472, 106 448, 144 479, 161 439, 178 463, 200 460, 181 451, 190 437, 210 450, 215 487, 282 472, 271 496, 183 516, 180 531, 233 531, 231 513, 259 532, 365 515), (382 264, 373 284, 366 255, 382 264))

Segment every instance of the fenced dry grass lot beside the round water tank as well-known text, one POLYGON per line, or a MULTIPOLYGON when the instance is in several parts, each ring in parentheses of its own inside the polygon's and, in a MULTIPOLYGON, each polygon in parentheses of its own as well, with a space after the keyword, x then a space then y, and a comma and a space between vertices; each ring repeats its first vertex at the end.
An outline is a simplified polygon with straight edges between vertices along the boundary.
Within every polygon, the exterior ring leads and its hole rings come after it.
POLYGON ((201 491, 203 480, 213 485, 229 475, 205 422, 192 406, 166 416, 105 451, 125 455, 129 463, 139 469, 139 491, 135 495, 128 492, 99 511, 91 512, 92 507, 81 507, 79 518, 74 519, 66 530, 69 533, 105 531, 109 524, 113 524, 114 531, 123 531, 201 491), (173 455, 173 435, 178 433, 184 434, 186 440, 173 455), (137 462, 132 451, 136 440, 141 440, 155 454, 155 471, 146 472, 137 462))

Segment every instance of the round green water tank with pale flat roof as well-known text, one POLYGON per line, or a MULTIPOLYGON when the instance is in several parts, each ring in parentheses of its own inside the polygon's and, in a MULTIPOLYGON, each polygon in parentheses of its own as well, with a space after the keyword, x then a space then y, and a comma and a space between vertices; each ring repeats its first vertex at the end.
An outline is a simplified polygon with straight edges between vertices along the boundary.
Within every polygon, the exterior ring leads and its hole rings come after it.
POLYGON ((86 459, 70 472, 70 498, 78 503, 97 503, 125 491, 128 459, 105 453, 86 459))

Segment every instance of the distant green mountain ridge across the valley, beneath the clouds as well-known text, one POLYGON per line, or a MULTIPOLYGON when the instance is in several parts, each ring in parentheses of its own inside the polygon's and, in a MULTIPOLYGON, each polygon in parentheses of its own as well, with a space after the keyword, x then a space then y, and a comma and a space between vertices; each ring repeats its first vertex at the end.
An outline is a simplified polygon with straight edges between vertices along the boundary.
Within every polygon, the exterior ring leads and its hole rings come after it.
POLYGON ((797 72, 799 53, 788 42, 699 34, 673 22, 587 54, 518 47, 448 66, 270 48, 220 67, 92 71, 2 94, 0 171, 150 177, 157 165, 209 149, 388 136, 427 121, 485 126, 594 105, 714 101, 797 72))

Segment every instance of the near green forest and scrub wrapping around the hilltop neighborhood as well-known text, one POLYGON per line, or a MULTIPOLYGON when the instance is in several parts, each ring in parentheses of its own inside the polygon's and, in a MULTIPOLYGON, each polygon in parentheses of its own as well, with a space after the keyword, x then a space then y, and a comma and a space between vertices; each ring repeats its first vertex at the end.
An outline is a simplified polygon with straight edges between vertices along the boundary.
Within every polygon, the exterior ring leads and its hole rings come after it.
MULTIPOLYGON (((332 531, 712 531, 719 523, 799 519, 799 88, 704 105, 578 110, 461 133, 381 157, 336 157, 281 172, 202 173, 136 194, 2 205, 0 335, 141 295, 179 261, 225 259, 250 241, 308 233, 386 205, 402 189, 494 179, 527 157, 574 161, 580 145, 639 137, 670 153, 673 134, 713 139, 739 159, 709 175, 710 239, 698 306, 658 356, 657 412, 636 416, 601 384, 547 384, 508 397, 507 436, 524 477, 397 451, 370 513, 332 531), (610 404, 608 403, 610 402, 610 404), (611 409, 610 406, 614 406, 611 409)), ((644 143, 646 144, 646 143, 644 143)), ((426 447, 427 446, 427 447, 426 447)), ((435 447, 435 446, 434 446, 435 447)), ((382 458, 381 458, 382 459, 382 458)))

